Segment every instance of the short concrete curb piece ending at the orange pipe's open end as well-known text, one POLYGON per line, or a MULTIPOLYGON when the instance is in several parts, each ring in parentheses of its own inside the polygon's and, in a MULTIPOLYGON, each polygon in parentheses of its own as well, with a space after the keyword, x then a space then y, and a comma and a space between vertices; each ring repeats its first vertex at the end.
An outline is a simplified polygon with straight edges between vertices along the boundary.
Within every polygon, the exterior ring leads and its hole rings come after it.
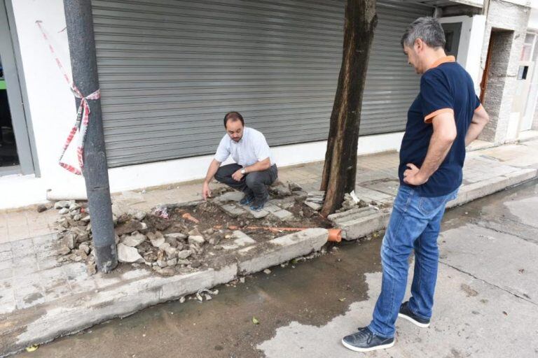
MULTIPOLYGON (((327 229, 314 228, 260 243, 262 253, 243 261, 240 258, 239 272, 242 275, 249 275, 270 266, 282 264, 295 257, 308 255, 312 251, 320 250, 327 242, 328 237, 329 231, 327 229)), ((246 249, 250 248, 242 250, 246 249)))

